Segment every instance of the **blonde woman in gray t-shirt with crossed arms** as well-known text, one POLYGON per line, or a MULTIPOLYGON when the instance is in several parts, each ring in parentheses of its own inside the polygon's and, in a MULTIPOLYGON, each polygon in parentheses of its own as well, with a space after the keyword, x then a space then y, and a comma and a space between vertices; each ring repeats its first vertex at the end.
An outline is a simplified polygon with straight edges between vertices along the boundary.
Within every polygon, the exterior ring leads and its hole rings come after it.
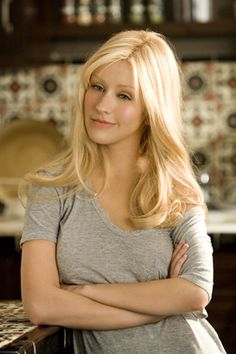
POLYGON ((212 247, 166 40, 113 36, 85 63, 68 151, 26 176, 22 299, 75 353, 225 353, 205 306, 212 247))

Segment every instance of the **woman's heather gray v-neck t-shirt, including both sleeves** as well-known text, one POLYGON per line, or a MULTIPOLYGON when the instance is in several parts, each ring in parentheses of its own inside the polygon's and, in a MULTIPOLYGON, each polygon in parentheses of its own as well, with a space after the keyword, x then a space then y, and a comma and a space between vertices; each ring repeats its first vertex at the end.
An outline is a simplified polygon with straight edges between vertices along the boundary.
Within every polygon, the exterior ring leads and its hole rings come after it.
MULTIPOLYGON (((56 188, 41 191, 59 194, 56 188)), ((125 232, 111 223, 98 200, 84 190, 65 199, 36 198, 26 208, 21 244, 35 239, 57 244, 59 277, 66 284, 165 279, 173 245, 183 239, 190 247, 180 277, 205 289, 211 298, 212 246, 200 208, 187 212, 174 228, 125 232)), ((135 328, 75 330, 75 353, 225 353, 206 316, 203 311, 135 328)))

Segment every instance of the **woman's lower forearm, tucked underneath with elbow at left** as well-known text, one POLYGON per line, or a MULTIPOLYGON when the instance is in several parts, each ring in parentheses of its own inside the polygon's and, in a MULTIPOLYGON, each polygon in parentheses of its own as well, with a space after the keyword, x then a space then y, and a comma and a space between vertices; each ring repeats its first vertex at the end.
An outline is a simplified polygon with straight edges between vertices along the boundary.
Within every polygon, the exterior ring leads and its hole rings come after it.
POLYGON ((137 314, 98 303, 82 295, 51 289, 41 299, 24 301, 26 312, 35 324, 78 329, 111 330, 157 322, 156 316, 137 314))

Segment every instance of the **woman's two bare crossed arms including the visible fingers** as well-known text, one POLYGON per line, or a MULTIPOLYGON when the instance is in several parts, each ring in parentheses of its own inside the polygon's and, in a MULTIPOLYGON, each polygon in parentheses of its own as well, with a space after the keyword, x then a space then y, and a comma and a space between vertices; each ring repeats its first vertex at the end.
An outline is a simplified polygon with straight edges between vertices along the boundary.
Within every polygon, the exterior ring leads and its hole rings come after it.
POLYGON ((155 323, 162 318, 203 309, 208 295, 178 277, 188 245, 173 252, 169 279, 132 284, 61 285, 56 245, 34 240, 22 249, 22 300, 35 324, 81 329, 121 329, 155 323))

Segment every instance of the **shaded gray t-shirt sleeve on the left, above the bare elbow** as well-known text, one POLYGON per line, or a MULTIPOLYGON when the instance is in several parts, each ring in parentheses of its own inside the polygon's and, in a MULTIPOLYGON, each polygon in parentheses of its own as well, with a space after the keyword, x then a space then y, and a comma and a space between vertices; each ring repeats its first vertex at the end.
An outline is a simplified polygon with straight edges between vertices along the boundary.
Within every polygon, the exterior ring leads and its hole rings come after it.
POLYGON ((57 242, 60 229, 61 202, 56 188, 32 187, 25 211, 22 245, 30 240, 57 242))

